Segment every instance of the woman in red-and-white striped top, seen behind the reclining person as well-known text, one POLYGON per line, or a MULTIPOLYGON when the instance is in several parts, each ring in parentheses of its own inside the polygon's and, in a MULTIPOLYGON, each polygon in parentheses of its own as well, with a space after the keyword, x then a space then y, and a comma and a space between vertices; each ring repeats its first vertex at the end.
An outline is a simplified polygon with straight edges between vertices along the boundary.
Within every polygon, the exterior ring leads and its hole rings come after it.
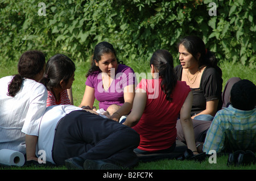
POLYGON ((75 81, 75 64, 64 54, 55 54, 46 64, 44 78, 40 81, 47 88, 48 106, 73 104, 72 83, 75 81))

